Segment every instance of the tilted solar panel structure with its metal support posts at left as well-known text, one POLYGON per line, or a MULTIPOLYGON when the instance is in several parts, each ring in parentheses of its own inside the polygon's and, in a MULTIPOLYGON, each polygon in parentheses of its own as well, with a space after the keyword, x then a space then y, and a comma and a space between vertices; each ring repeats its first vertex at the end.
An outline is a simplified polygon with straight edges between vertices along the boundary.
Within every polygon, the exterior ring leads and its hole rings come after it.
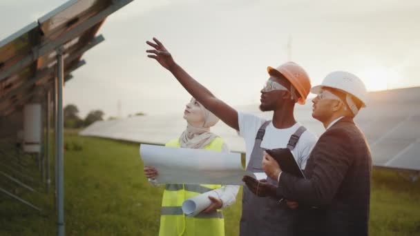
MULTIPOLYGON (((35 170, 39 166, 42 171, 41 181, 43 184, 48 182, 44 170, 49 168, 49 164, 45 163, 44 158, 49 157, 46 150, 50 150, 50 142, 42 140, 46 147, 37 154, 22 153, 17 145, 21 142, 19 130, 25 128, 23 107, 28 104, 42 106, 42 111, 46 113, 42 122, 44 130, 51 117, 51 101, 54 101, 54 110, 57 111, 55 115, 58 114, 58 118, 55 118, 55 132, 62 134, 62 83, 71 79, 71 72, 86 63, 82 59, 84 53, 104 41, 104 37, 98 36, 97 32, 106 17, 131 1, 133 0, 70 0, 0 41, 0 174, 3 177, 0 179, 0 193, 41 210, 28 199, 21 199, 15 194, 17 191, 3 188, 3 184, 9 186, 10 182, 19 187, 28 187, 27 179, 21 179, 28 174, 23 175, 23 169, 28 168, 21 166, 21 159, 28 159, 26 155, 36 156, 38 161, 35 163, 35 170), (51 99, 51 93, 54 99, 51 99)), ((60 146, 63 140, 59 136, 56 135, 55 141, 58 145, 55 148, 58 163, 57 227, 58 235, 64 235, 64 171, 63 165, 59 164, 62 163, 60 146)))

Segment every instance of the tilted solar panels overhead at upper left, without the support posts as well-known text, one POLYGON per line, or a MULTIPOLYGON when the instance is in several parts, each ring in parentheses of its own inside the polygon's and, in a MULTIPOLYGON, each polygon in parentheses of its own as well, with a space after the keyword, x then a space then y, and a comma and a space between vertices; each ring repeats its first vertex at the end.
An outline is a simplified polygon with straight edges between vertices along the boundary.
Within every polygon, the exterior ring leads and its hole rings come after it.
POLYGON ((41 96, 35 88, 52 86, 59 47, 64 53, 65 80, 70 79, 70 73, 84 65, 84 52, 104 41, 95 36, 104 19, 129 2, 68 1, 0 41, 0 116, 41 96))

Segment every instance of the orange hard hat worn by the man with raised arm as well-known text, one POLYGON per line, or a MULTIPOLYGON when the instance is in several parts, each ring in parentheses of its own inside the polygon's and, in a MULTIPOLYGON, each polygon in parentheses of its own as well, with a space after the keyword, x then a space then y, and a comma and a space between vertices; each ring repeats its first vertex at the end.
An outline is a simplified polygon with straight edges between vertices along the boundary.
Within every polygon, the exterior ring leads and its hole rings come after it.
POLYGON ((309 90, 311 90, 311 80, 309 79, 307 72, 303 70, 301 66, 293 61, 288 61, 278 66, 278 68, 269 66, 267 67, 267 71, 269 75, 275 76, 276 73, 283 75, 299 92, 300 98, 298 99, 298 104, 305 104, 307 95, 309 95, 309 90))

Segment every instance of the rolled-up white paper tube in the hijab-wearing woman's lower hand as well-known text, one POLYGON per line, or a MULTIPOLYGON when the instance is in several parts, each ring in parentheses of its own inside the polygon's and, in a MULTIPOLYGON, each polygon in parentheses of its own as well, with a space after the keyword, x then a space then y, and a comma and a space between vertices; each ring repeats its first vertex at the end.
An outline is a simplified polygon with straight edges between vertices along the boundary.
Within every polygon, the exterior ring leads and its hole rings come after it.
POLYGON ((198 215, 200 212, 202 212, 202 210, 210 206, 211 200, 209 199, 209 196, 219 198, 218 193, 216 193, 214 190, 211 190, 207 193, 202 193, 185 200, 182 203, 182 211, 189 217, 195 217, 195 215, 198 215))

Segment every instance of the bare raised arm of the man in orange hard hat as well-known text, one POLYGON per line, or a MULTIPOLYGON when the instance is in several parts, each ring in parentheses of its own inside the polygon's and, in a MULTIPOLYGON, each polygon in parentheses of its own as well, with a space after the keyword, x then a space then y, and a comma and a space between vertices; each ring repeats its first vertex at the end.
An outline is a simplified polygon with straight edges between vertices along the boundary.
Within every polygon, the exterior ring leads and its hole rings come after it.
POLYGON ((169 70, 173 76, 181 83, 181 85, 200 102, 207 110, 213 112, 231 128, 239 130, 238 112, 231 106, 225 104, 224 101, 215 97, 207 88, 202 86, 198 81, 193 79, 184 69, 182 69, 175 61, 171 53, 158 40, 153 38, 153 42, 146 41, 149 46, 154 49, 146 50, 151 53, 147 57, 156 59, 161 66, 169 70))

